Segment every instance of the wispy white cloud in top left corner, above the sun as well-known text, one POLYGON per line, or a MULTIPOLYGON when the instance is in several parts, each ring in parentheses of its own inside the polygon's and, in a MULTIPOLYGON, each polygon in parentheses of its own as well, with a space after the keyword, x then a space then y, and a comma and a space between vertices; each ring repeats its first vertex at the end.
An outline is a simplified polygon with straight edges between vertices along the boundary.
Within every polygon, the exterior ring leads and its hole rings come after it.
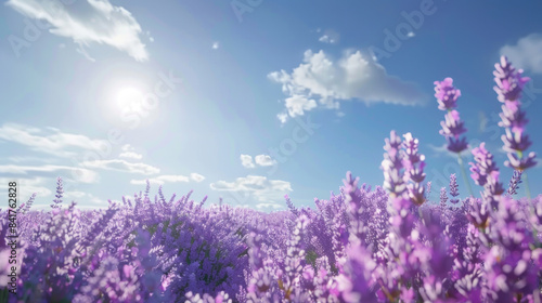
POLYGON ((149 58, 139 37, 141 26, 129 11, 112 5, 108 0, 87 2, 90 10, 86 14, 52 0, 9 0, 7 5, 27 17, 47 21, 51 34, 73 39, 86 55, 85 47, 99 43, 114 47, 140 62, 149 58))

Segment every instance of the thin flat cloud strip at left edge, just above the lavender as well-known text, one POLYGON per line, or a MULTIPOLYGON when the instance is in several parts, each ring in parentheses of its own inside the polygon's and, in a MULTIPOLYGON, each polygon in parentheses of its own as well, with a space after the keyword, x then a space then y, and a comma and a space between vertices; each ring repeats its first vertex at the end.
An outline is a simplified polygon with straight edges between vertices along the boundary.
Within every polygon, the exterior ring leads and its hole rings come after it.
POLYGON ((78 167, 53 166, 53 164, 38 166, 38 167, 14 166, 14 164, 0 166, 0 173, 4 174, 9 173, 15 175, 27 175, 27 174, 36 175, 37 173, 50 174, 53 172, 56 174, 65 175, 66 177, 70 177, 72 175, 76 174, 77 181, 82 183, 95 183, 99 180, 99 174, 96 172, 78 167))

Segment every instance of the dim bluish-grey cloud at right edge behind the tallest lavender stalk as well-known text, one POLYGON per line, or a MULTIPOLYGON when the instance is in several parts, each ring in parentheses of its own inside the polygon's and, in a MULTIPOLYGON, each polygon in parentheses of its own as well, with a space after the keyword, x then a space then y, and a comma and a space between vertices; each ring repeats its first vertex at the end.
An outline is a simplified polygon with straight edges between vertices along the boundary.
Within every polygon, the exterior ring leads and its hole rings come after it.
POLYGON ((542 34, 531 34, 517 41, 515 45, 504 45, 500 50, 517 68, 542 74, 542 34))

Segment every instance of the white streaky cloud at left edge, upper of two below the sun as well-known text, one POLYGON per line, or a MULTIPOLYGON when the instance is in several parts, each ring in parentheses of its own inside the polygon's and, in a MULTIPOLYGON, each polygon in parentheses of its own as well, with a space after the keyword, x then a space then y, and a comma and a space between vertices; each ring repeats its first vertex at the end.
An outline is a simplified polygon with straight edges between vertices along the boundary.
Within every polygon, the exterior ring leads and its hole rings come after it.
POLYGON ((47 131, 43 131, 38 128, 15 123, 4 123, 0 127, 0 139, 59 157, 74 157, 79 154, 66 150, 69 148, 102 150, 108 144, 104 140, 92 140, 80 134, 63 133, 54 128, 48 128, 47 131))

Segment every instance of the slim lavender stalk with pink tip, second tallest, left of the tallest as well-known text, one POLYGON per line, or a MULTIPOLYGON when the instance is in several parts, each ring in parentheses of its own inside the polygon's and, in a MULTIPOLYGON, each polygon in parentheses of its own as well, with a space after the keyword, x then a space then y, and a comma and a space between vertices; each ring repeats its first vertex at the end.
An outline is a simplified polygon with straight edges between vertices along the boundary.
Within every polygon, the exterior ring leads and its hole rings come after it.
POLYGON ((464 122, 460 119, 460 113, 455 110, 457 107, 457 98, 461 96, 461 91, 455 89, 452 83, 452 78, 446 78, 441 82, 434 82, 435 97, 439 103, 439 109, 447 111, 444 115, 444 121, 440 122, 442 129, 439 133, 446 137, 448 142, 448 150, 457 154, 457 162, 461 168, 463 180, 467 185, 468 193, 470 196, 474 196, 473 188, 470 188, 470 183, 468 182, 465 167, 463 164, 463 158, 461 158, 461 152, 467 149, 468 147, 466 139, 461 136, 467 131, 467 129, 465 129, 464 122))

